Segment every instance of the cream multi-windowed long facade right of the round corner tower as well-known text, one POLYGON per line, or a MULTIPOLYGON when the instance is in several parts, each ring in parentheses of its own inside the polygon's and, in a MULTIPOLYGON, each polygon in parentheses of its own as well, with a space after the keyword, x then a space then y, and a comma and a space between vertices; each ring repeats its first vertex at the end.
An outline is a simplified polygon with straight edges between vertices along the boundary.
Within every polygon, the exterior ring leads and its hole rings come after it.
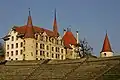
POLYGON ((65 59, 65 49, 62 39, 49 37, 44 32, 37 34, 36 43, 36 56, 38 60, 41 59, 65 59))

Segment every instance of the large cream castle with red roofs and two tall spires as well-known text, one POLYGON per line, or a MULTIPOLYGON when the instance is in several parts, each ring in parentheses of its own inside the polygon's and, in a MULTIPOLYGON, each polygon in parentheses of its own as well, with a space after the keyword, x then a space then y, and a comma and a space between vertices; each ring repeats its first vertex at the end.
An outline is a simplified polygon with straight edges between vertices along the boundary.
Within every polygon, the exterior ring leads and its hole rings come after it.
POLYGON ((43 59, 76 59, 79 58, 78 31, 76 37, 70 29, 60 36, 54 13, 53 30, 48 30, 32 23, 29 10, 27 24, 13 26, 3 38, 5 42, 5 60, 43 60, 43 59))

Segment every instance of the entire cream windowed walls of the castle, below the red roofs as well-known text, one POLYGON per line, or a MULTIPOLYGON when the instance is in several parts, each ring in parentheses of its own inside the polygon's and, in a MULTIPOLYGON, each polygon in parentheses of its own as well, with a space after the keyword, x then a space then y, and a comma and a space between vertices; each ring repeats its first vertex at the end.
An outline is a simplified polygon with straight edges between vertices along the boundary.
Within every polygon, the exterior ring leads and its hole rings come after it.
POLYGON ((60 36, 50 37, 44 32, 36 33, 35 38, 22 39, 17 38, 18 32, 14 30, 8 35, 10 39, 5 41, 6 60, 76 59, 75 46, 66 50, 60 36))

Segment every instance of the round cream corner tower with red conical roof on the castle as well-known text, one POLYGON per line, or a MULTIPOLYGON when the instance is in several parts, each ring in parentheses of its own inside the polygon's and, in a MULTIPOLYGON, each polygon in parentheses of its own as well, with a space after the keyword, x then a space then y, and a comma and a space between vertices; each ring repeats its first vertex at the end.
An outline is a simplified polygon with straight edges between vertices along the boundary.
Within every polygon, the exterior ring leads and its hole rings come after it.
POLYGON ((32 24, 32 18, 30 15, 29 11, 29 16, 28 16, 28 21, 26 25, 26 32, 24 36, 24 55, 23 59, 24 60, 35 60, 36 55, 35 55, 35 45, 36 45, 36 40, 34 36, 34 28, 32 24))

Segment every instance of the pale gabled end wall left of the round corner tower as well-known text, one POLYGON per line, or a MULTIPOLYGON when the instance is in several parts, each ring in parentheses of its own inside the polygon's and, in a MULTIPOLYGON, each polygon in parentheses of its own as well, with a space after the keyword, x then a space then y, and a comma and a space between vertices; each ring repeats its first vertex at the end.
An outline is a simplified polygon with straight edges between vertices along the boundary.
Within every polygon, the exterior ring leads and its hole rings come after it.
POLYGON ((17 32, 11 30, 8 35, 10 39, 5 42, 5 59, 6 60, 23 60, 23 39, 17 38, 17 32), (17 46, 18 45, 18 46, 17 46))

